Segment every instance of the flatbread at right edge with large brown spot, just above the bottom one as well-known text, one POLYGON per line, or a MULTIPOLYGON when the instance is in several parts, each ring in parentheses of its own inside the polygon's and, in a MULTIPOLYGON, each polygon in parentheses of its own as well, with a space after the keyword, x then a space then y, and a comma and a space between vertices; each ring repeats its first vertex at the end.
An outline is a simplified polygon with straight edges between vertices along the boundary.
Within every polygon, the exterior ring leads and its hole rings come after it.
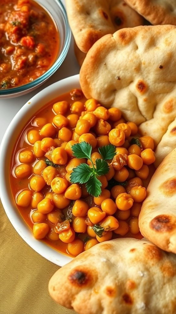
POLYGON ((176 149, 158 166, 148 185, 139 228, 158 247, 176 253, 176 149))

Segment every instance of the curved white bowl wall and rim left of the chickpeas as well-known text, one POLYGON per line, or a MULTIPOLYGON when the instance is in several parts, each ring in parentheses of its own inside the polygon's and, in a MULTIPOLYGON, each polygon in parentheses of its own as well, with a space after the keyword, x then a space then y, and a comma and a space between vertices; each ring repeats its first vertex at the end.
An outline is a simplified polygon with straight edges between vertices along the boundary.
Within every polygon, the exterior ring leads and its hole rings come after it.
POLYGON ((79 74, 64 78, 46 87, 28 100, 28 102, 18 111, 9 124, 0 146, 0 198, 8 219, 18 234, 26 243, 28 243, 29 246, 31 246, 41 256, 59 266, 69 263, 72 258, 57 252, 44 242, 34 239, 32 231, 18 212, 12 192, 9 188, 9 168, 14 143, 25 124, 29 121, 30 116, 33 116, 36 111, 41 109, 50 100, 69 92, 73 88, 80 88, 79 74))

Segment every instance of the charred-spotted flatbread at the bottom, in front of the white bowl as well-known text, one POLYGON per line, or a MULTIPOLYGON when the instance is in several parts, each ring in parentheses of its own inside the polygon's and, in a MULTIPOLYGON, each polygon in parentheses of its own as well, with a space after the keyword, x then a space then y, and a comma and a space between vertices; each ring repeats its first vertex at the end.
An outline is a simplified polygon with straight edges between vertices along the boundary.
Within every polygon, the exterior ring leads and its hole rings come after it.
POLYGON ((60 268, 49 293, 79 314, 175 314, 176 255, 144 240, 102 242, 60 268))

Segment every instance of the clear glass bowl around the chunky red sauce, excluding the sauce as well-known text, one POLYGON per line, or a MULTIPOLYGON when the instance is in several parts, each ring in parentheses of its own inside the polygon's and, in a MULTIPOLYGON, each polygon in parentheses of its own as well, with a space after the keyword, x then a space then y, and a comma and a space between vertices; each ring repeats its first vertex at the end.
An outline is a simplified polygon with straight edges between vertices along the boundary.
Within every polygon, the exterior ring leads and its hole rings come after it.
POLYGON ((46 80, 49 79, 51 75, 60 67, 64 61, 67 52, 70 47, 71 41, 71 30, 67 19, 67 14, 65 7, 60 0, 37 0, 45 10, 50 14, 54 19, 54 22, 59 30, 60 34, 60 49, 58 51, 57 60, 54 62, 51 68, 46 71, 39 78, 34 81, 18 86, 15 88, 0 90, 0 99, 18 97, 24 94, 31 92, 32 90, 38 88, 40 85, 44 84, 46 80))

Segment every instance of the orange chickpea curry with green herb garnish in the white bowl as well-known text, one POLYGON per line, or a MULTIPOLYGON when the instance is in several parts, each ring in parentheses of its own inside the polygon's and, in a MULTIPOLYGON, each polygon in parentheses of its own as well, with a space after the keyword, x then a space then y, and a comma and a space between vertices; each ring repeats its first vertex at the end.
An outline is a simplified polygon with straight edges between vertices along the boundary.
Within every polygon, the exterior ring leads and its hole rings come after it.
POLYGON ((70 256, 113 238, 140 239, 153 150, 153 139, 140 137, 118 108, 73 89, 19 136, 10 171, 17 208, 36 239, 70 256))

